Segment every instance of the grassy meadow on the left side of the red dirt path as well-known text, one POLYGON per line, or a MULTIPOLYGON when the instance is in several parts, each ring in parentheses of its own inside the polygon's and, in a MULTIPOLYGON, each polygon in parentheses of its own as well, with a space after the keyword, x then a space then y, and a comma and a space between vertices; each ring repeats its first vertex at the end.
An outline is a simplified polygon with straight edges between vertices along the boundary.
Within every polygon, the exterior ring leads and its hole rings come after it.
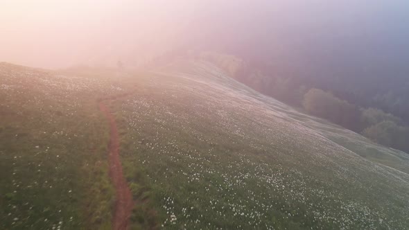
POLYGON ((0 229, 110 228, 107 80, 0 64, 0 229))

